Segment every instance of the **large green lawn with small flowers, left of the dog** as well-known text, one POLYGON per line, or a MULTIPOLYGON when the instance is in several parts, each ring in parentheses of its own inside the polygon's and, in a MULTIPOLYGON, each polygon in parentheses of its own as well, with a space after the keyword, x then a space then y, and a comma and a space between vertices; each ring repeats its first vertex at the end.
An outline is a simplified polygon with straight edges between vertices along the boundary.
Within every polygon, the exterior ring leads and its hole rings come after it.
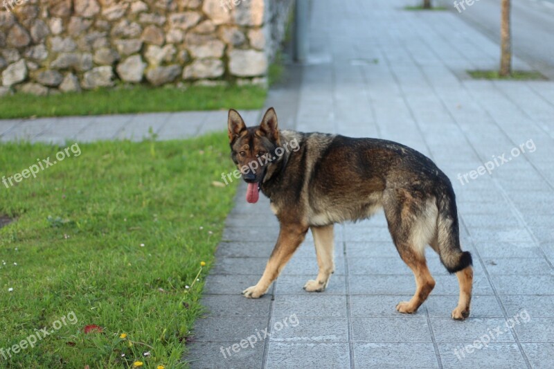
MULTIPOLYGON (((62 148, 2 144, 0 176, 62 148)), ((0 182, 0 218, 15 218, 0 228, 0 348, 67 323, 0 368, 179 368, 233 203, 235 186, 212 184, 233 169, 226 134, 73 149, 37 178, 0 182)))

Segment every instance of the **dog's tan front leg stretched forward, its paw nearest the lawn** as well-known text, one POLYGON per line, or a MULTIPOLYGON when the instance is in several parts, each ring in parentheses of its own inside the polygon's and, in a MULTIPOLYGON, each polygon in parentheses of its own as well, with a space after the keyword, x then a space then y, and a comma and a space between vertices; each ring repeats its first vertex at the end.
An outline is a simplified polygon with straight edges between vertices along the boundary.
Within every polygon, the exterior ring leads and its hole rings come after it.
POLYGON ((242 291, 245 297, 259 298, 265 294, 271 283, 276 280, 280 271, 283 270, 285 264, 290 260, 294 251, 296 251, 298 246, 303 242, 307 229, 307 226, 302 226, 300 224, 280 225, 277 243, 265 266, 262 278, 260 278, 255 286, 242 291))

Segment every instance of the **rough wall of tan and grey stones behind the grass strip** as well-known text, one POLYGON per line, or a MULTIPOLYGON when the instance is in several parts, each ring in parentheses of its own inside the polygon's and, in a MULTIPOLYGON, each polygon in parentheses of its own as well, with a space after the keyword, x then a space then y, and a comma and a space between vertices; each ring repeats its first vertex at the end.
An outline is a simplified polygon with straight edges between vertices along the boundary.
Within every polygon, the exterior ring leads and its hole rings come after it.
POLYGON ((265 84, 293 1, 0 1, 0 96, 265 84))

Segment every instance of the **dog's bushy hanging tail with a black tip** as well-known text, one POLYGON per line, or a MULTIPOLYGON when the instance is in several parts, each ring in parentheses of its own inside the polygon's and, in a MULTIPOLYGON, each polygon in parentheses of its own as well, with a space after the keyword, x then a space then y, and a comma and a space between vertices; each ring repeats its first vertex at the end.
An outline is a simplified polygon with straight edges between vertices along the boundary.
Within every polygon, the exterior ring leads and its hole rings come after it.
POLYGON ((472 254, 462 251, 456 197, 452 185, 437 197, 437 243, 438 255, 449 273, 456 273, 473 264, 472 254))

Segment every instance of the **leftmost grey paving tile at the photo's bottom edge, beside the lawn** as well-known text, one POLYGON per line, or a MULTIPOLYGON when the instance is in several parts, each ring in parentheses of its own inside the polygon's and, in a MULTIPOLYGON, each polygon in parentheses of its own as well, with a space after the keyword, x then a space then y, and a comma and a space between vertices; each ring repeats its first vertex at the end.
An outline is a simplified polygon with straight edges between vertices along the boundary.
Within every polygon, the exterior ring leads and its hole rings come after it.
POLYGON ((252 348, 246 344, 240 347, 240 341, 197 342, 192 346, 186 360, 191 369, 258 368, 263 360, 263 353, 263 343, 254 344, 252 348))

